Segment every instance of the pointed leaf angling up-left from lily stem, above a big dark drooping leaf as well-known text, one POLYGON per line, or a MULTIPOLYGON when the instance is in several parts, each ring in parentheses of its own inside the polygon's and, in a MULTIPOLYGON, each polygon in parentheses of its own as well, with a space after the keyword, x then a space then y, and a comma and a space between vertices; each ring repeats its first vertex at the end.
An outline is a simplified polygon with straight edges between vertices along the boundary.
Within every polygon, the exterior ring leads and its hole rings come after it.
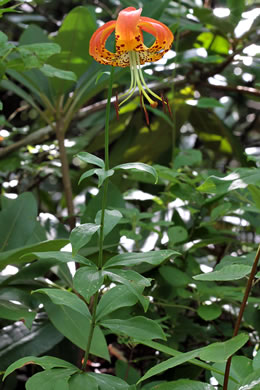
POLYGON ((78 311, 85 315, 88 319, 91 319, 87 305, 76 294, 59 290, 57 288, 41 288, 33 291, 34 293, 45 294, 55 305, 68 306, 71 309, 78 311))

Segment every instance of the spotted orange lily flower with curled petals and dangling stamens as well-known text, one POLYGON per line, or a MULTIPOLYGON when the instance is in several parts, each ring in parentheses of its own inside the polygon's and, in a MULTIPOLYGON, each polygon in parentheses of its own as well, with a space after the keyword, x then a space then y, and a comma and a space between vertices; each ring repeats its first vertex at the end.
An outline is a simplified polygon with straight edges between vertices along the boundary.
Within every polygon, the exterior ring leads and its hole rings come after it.
MULTIPOLYGON (((137 86, 143 107, 143 96, 152 107, 156 107, 158 103, 151 98, 151 95, 167 104, 167 101, 164 101, 163 98, 160 98, 147 86, 141 71, 141 65, 161 59, 171 48, 173 34, 165 24, 155 19, 141 16, 141 12, 142 8, 128 7, 123 9, 119 12, 117 20, 112 20, 98 28, 90 40, 89 53, 97 62, 123 68, 126 66, 130 67, 130 88, 125 94, 120 96, 125 97, 125 99, 119 106, 133 95, 137 86), (112 53, 106 49, 105 45, 108 37, 114 30, 116 52, 112 53), (144 44, 143 31, 155 37, 155 42, 151 47, 147 47, 144 44)), ((117 109, 119 106, 117 105, 117 109)))

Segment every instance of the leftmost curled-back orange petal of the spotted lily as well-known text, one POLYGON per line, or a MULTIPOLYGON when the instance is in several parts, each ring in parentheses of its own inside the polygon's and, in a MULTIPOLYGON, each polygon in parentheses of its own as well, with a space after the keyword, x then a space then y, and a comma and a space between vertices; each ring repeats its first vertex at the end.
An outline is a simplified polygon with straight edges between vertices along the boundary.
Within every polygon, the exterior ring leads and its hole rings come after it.
POLYGON ((105 23, 94 32, 90 39, 89 54, 102 64, 112 65, 111 60, 114 57, 114 53, 107 50, 105 45, 109 35, 114 31, 115 26, 115 20, 105 23))

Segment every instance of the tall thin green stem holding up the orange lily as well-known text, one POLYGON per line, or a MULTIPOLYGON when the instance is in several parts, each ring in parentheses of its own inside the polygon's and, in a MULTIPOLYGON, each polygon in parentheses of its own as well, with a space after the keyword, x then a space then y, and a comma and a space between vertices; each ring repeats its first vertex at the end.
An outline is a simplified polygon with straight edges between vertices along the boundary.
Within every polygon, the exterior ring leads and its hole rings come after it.
MULTIPOLYGON (((113 87, 113 77, 114 77, 114 68, 112 67, 110 72, 110 81, 108 87, 108 96, 107 96, 107 106, 106 106, 106 123, 105 123, 105 170, 109 170, 109 118, 110 118, 110 104, 112 97, 112 87, 113 87)), ((99 254, 98 254, 98 268, 101 270, 103 266, 103 244, 104 244, 104 220, 105 220, 105 209, 107 203, 107 191, 108 191, 108 178, 104 180, 103 185, 103 198, 102 198, 102 209, 101 209, 101 221, 100 221, 100 234, 99 234, 99 254)), ((90 324, 90 331, 88 336, 88 342, 86 347, 86 352, 82 364, 82 370, 86 369, 89 351, 91 347, 91 342, 96 326, 96 311, 98 304, 99 291, 94 295, 94 302, 92 308, 92 319, 90 324)))

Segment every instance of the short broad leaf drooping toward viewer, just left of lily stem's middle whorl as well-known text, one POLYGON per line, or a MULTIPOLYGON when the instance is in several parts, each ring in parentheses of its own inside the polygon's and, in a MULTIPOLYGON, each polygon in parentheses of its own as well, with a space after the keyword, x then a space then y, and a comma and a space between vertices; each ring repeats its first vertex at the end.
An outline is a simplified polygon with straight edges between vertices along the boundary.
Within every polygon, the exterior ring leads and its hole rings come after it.
POLYGON ((74 276, 74 287, 82 295, 87 302, 89 302, 92 295, 94 295, 102 286, 104 281, 103 271, 97 268, 81 267, 77 270, 74 276))

